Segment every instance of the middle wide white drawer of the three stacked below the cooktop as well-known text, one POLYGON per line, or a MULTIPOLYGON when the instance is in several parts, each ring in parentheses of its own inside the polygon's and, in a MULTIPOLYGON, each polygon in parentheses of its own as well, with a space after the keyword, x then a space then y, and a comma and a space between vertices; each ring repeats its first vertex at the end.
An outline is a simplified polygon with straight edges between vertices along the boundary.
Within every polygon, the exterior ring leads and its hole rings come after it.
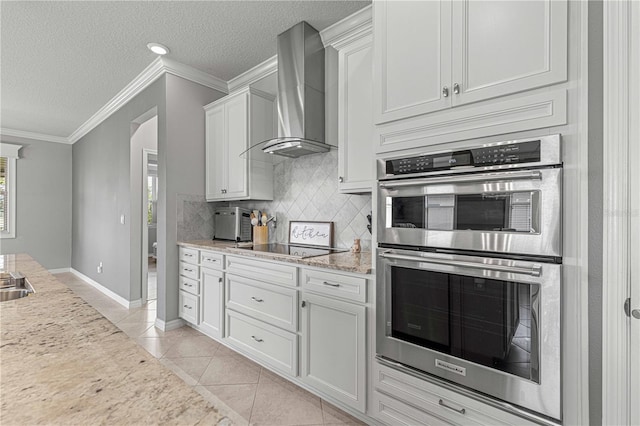
POLYGON ((298 292, 227 274, 227 307, 275 326, 298 329, 298 292))

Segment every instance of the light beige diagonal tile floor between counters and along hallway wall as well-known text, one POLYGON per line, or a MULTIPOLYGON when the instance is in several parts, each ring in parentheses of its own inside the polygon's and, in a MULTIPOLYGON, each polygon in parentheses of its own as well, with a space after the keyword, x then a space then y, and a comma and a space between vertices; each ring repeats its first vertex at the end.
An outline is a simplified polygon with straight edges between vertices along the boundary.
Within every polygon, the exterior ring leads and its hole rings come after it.
POLYGON ((156 301, 126 309, 72 273, 56 277, 237 423, 364 424, 191 327, 158 330, 156 301))

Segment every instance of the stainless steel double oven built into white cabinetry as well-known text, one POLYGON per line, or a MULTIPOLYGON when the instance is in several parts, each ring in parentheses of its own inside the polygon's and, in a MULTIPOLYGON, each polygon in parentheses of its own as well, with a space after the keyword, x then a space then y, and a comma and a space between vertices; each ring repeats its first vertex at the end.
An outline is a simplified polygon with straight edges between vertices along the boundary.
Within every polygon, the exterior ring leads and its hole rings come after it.
POLYGON ((381 359, 561 419, 560 135, 378 160, 381 359))

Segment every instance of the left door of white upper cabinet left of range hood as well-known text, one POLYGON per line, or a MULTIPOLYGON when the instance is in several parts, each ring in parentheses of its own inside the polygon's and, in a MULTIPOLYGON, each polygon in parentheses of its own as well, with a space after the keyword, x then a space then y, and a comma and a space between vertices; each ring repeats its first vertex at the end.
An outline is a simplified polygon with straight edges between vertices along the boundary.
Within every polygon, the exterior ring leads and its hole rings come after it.
POLYGON ((205 190, 207 201, 224 199, 226 161, 224 105, 206 112, 205 190))

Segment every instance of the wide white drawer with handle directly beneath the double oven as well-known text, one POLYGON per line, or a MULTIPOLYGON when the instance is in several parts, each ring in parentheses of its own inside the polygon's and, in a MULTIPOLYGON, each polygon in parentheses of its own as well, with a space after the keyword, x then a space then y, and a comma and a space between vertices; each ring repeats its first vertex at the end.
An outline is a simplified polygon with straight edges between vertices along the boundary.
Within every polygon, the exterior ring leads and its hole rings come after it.
MULTIPOLYGON (((403 406, 419 407, 420 410, 429 413, 429 416, 445 419, 452 424, 534 424, 522 417, 483 404, 480 401, 378 362, 374 362, 373 370, 376 390, 393 395, 403 406)), ((379 411, 377 407, 376 411, 379 411)))

